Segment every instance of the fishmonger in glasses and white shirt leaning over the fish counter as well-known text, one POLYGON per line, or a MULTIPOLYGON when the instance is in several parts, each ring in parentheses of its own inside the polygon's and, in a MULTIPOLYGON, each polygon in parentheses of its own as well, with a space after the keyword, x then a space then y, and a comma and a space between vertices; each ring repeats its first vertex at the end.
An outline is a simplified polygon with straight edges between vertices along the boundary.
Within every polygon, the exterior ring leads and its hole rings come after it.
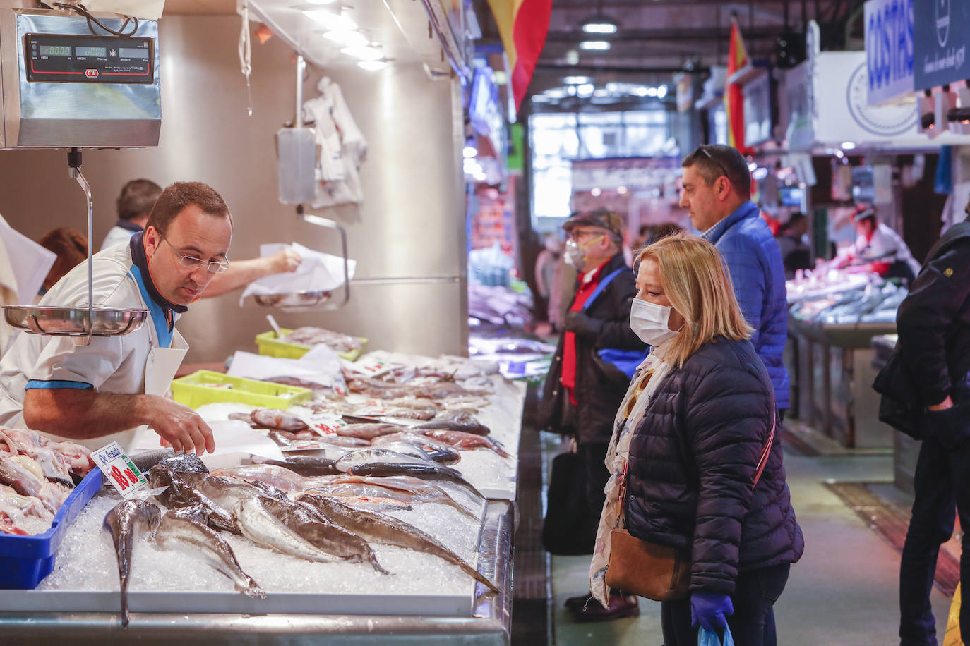
MULTIPOLYGON (((166 188, 144 232, 93 259, 95 307, 144 308, 146 323, 124 336, 92 337, 87 346, 20 334, 0 361, 0 424, 92 449, 117 441, 126 450, 148 426, 176 451, 212 451, 209 425, 164 395, 188 350, 175 323, 229 266, 232 232, 229 207, 209 186, 166 188)), ((86 261, 40 304, 86 306, 86 261)))

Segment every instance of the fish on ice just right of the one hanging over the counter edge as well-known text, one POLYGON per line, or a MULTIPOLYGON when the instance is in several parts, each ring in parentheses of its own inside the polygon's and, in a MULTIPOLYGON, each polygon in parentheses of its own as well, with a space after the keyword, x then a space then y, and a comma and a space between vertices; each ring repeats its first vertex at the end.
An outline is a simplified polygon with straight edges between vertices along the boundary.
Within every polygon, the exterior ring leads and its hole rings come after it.
MULTIPOLYGON (((186 508, 187 509, 187 508, 186 508)), ((181 513, 169 511, 158 524, 155 540, 163 549, 184 552, 202 559, 228 576, 246 597, 266 599, 266 593, 251 576, 242 571, 233 548, 213 530, 193 522, 181 513)))

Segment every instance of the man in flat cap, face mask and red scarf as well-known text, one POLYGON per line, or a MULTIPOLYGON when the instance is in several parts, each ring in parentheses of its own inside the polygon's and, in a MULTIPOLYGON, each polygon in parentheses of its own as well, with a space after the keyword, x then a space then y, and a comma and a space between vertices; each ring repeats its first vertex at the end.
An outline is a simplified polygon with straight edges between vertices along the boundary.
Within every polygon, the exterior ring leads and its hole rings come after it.
MULTIPOLYGON (((636 295, 633 272, 623 258, 623 221, 607 210, 573 214, 566 224, 566 262, 578 272, 576 294, 546 377, 540 428, 575 438, 585 477, 592 553, 599 514, 609 478, 604 460, 613 420, 630 383, 630 375, 603 359, 638 355, 646 346, 630 329, 630 303, 636 295), (625 352, 626 351, 626 352, 625 352)), ((635 357, 634 357, 635 358, 635 357)), ((636 363, 638 360, 630 361, 636 363)), ((578 507, 578 506, 577 506, 578 507)), ((636 597, 614 591, 604 607, 589 593, 566 600, 577 621, 603 621, 639 613, 636 597)))

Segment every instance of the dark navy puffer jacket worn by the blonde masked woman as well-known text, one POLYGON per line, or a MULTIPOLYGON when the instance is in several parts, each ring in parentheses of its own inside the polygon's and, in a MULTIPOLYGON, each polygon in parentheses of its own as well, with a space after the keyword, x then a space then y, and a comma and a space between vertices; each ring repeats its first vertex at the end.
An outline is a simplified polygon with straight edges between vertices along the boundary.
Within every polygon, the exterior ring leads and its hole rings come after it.
POLYGON ((633 432, 627 528, 690 553, 692 590, 731 595, 738 571, 801 556, 777 432, 752 489, 774 416, 751 343, 719 338, 670 371, 633 432))

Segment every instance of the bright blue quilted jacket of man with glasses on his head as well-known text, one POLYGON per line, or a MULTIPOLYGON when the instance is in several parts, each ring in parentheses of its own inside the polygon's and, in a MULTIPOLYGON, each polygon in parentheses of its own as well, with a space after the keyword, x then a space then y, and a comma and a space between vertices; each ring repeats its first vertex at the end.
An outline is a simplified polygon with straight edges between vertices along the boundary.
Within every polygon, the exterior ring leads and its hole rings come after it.
POLYGON ((704 233, 727 262, 745 321, 755 328, 751 343, 768 369, 779 409, 789 407, 789 376, 782 360, 788 338, 785 265, 778 242, 761 219, 758 204, 746 201, 704 233))

